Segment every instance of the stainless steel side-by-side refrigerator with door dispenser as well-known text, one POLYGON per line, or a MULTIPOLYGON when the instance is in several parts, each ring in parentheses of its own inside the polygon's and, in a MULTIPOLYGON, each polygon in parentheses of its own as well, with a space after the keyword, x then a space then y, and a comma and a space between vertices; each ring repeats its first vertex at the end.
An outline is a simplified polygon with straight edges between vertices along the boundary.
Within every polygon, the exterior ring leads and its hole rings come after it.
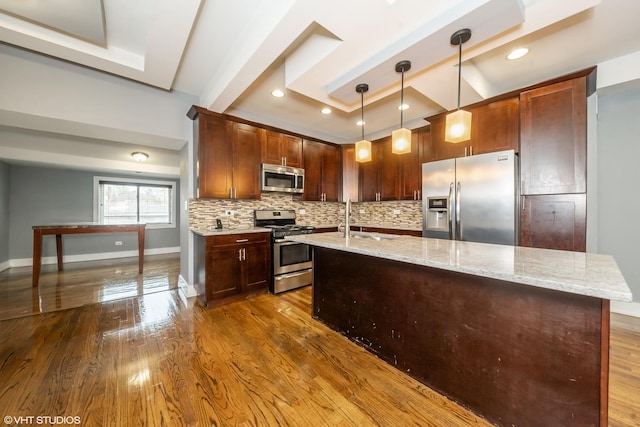
POLYGON ((422 165, 422 235, 518 244, 518 159, 513 150, 422 165))

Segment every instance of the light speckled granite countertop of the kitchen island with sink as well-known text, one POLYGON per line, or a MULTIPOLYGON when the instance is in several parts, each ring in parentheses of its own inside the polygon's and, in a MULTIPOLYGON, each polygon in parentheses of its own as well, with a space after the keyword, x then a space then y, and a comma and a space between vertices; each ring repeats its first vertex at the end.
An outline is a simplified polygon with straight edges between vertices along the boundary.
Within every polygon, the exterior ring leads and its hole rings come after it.
POLYGON ((349 239, 335 232, 287 239, 573 294, 632 300, 609 255, 359 232, 349 239))

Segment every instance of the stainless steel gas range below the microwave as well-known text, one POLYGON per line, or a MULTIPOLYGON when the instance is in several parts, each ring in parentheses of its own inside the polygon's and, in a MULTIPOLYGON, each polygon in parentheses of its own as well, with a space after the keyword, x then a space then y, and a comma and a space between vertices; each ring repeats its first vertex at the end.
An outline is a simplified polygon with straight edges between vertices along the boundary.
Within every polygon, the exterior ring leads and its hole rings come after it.
POLYGON ((256 210, 254 214, 256 227, 271 229, 273 280, 269 291, 277 294, 310 285, 311 246, 288 241, 287 236, 313 233, 315 228, 296 225, 294 210, 256 210))

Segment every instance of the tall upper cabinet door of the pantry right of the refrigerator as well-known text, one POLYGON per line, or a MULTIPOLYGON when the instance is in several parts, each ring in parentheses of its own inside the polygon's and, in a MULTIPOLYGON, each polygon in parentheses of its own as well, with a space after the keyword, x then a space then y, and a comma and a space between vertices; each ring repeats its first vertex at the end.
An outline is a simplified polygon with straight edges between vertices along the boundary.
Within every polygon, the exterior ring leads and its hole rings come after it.
POLYGON ((586 191, 586 91, 579 77, 520 94, 522 194, 586 191))

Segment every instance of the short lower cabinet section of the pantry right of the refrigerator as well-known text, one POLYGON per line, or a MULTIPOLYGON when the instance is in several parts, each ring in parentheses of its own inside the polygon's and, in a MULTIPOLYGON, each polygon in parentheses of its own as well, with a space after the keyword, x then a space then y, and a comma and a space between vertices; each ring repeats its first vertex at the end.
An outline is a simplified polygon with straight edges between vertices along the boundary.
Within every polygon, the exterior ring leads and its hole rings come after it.
POLYGON ((586 251, 586 194, 524 196, 520 245, 586 251))

